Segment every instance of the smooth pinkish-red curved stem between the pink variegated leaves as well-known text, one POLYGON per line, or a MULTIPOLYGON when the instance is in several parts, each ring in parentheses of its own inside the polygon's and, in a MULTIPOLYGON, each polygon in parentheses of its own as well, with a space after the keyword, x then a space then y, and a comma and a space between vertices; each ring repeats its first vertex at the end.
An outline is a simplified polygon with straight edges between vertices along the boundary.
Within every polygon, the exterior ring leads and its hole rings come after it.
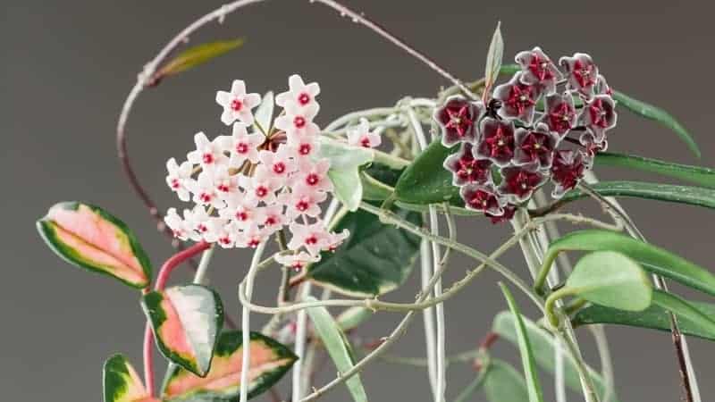
MULTIPOLYGON (((204 252, 210 248, 211 244, 202 241, 189 248, 186 248, 179 253, 172 255, 159 270, 156 275, 155 290, 164 290, 166 282, 169 281, 173 270, 181 265, 181 263, 190 258, 204 252)), ((148 289, 144 289, 144 293, 148 293, 148 289)), ((149 398, 154 398, 154 331, 151 328, 151 322, 147 320, 147 328, 144 331, 144 382, 147 386, 149 398)))

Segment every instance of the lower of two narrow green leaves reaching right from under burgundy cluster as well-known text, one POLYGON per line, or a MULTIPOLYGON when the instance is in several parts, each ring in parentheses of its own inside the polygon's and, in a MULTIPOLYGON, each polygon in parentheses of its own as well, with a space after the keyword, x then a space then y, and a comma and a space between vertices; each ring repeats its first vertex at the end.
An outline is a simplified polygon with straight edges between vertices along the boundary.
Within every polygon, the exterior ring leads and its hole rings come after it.
MULTIPOLYGON (((603 197, 637 197, 715 208, 715 189, 711 188, 643 181, 601 181, 592 184, 591 188, 603 197)), ((576 188, 566 193, 561 200, 568 203, 583 197, 588 195, 576 188)))

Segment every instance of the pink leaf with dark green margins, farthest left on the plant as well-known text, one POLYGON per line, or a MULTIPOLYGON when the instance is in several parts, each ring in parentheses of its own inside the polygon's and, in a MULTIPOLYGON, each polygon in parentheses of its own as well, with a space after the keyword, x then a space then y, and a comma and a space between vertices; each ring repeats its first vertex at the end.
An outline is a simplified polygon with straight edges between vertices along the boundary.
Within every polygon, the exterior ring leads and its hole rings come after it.
POLYGON ((70 264, 144 289, 151 264, 124 222, 102 208, 80 202, 59 203, 37 223, 40 236, 70 264))

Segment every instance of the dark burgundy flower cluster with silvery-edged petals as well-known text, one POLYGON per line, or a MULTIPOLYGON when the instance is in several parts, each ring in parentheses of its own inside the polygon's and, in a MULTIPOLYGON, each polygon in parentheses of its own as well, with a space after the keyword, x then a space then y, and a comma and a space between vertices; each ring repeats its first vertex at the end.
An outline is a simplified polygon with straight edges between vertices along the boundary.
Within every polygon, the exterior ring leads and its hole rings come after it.
POLYGON ((442 144, 459 144, 444 161, 453 184, 467 208, 492 222, 511 219, 550 179, 554 198, 575 188, 616 125, 611 90, 588 54, 562 57, 560 69, 539 47, 516 61, 521 71, 486 105, 451 96, 433 116, 442 144))

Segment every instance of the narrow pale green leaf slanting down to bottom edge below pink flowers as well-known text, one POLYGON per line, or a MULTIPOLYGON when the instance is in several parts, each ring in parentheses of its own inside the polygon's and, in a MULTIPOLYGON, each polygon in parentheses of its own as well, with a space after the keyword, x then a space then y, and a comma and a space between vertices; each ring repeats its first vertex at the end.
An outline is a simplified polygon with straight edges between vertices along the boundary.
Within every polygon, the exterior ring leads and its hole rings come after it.
MULTIPOLYGON (((307 301, 316 301, 316 299, 315 297, 307 297, 307 301)), ((346 373, 349 371, 355 365, 355 357, 348 339, 345 338, 345 334, 342 333, 338 324, 333 321, 332 315, 328 313, 325 307, 307 308, 307 314, 310 316, 310 320, 315 326, 315 332, 323 341, 323 345, 328 351, 328 355, 331 356, 338 372, 346 373)), ((360 381, 360 374, 353 375, 348 381, 345 381, 345 384, 356 402, 367 401, 363 383, 360 381)))

